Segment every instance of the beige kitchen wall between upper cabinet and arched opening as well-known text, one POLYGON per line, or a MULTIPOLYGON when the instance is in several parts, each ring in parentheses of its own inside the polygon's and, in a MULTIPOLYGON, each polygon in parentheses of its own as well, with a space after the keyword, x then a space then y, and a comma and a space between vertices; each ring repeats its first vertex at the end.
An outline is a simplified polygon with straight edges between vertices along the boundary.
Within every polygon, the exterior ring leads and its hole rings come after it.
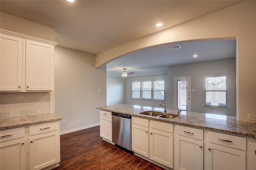
POLYGON ((96 107, 106 106, 106 72, 94 62, 92 54, 55 48, 55 113, 66 121, 61 133, 100 123, 96 107))

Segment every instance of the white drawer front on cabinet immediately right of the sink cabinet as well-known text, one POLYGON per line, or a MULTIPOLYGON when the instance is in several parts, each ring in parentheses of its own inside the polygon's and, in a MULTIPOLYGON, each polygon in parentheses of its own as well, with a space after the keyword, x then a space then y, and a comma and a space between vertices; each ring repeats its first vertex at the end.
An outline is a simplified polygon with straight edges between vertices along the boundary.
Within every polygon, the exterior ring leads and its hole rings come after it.
POLYGON ((176 134, 193 139, 204 140, 204 130, 193 127, 176 125, 176 134))

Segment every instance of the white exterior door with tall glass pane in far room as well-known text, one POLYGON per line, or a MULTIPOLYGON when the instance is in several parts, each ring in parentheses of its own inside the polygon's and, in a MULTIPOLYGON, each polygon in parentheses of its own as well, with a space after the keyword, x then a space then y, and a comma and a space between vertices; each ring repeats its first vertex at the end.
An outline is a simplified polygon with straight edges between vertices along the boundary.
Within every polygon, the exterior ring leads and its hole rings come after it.
POLYGON ((190 79, 191 77, 174 77, 174 103, 180 110, 191 111, 190 79))

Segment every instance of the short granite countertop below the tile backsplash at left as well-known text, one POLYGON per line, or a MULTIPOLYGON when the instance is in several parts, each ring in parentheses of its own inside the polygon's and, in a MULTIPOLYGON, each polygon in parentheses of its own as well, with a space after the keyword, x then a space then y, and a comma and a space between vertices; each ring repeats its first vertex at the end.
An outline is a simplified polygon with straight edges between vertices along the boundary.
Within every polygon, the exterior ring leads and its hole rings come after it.
POLYGON ((0 130, 58 121, 60 119, 62 118, 54 113, 5 118, 0 119, 0 130))

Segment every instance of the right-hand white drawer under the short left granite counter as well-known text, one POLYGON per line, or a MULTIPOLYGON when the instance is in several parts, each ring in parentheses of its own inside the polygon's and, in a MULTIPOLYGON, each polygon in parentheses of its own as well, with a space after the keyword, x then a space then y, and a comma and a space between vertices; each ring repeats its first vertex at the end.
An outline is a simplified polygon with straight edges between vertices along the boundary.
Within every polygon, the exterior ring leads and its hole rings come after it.
POLYGON ((29 127, 29 135, 37 135, 41 133, 51 132, 51 131, 58 131, 59 130, 59 122, 51 122, 51 123, 44 123, 40 125, 34 125, 29 127))

